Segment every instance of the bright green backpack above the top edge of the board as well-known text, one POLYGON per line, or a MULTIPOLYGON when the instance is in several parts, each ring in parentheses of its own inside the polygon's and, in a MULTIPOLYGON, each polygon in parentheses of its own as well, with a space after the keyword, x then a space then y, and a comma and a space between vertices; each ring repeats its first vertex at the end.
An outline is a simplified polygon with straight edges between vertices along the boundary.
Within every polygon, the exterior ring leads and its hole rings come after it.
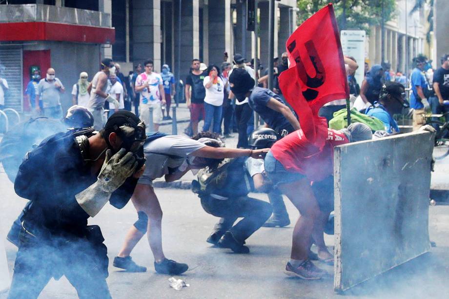
MULTIPOLYGON (((361 122, 368 125, 373 132, 385 130, 384 123, 371 116, 360 113, 356 108, 351 110, 351 123, 361 122)), ((347 109, 342 109, 334 112, 334 118, 329 121, 329 128, 334 130, 341 130, 347 127, 347 109)))

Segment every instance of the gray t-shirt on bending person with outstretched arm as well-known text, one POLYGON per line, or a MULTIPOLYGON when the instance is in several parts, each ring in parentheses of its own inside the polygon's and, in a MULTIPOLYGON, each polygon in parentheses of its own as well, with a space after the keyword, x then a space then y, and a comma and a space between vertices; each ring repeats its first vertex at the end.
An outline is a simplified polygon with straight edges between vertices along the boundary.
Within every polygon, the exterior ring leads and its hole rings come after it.
POLYGON ((169 168, 178 168, 191 153, 204 146, 206 145, 197 140, 179 135, 164 136, 144 144, 145 171, 139 183, 152 185, 153 179, 169 174, 169 168))

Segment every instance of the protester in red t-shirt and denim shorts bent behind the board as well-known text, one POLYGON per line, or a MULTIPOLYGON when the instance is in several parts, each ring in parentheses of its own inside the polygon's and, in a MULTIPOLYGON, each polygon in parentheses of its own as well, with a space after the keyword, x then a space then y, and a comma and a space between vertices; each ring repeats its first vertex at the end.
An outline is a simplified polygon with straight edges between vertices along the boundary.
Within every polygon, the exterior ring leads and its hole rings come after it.
POLYGON ((336 145, 371 138, 367 125, 352 123, 340 131, 327 129, 327 140, 320 150, 306 139, 302 130, 297 130, 276 142, 266 155, 268 178, 301 214, 293 230, 287 275, 302 279, 321 279, 326 275, 326 271, 316 267, 308 256, 312 237, 319 259, 332 261, 323 233, 333 210, 333 149, 336 145))

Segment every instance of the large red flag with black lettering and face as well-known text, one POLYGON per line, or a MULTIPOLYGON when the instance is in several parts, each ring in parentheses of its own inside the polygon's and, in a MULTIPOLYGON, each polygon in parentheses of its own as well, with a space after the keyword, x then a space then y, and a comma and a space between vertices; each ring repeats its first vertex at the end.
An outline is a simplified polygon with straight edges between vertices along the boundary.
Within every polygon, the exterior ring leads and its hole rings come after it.
POLYGON ((279 76, 286 100, 299 117, 307 140, 321 147, 327 137, 320 108, 349 97, 343 51, 332 4, 307 19, 286 43, 290 67, 279 76))

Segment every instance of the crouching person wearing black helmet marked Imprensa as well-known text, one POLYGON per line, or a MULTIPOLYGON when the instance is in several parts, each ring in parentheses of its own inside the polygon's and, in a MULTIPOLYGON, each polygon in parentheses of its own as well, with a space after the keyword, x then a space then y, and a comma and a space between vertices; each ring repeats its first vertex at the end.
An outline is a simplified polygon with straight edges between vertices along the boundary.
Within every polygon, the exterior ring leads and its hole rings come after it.
MULTIPOLYGON (((262 129, 259 133, 258 140, 250 141, 262 148, 270 147, 277 140, 272 129, 262 129)), ((224 146, 215 140, 211 140, 209 145, 224 146)), ((249 253, 249 248, 244 245, 245 240, 265 223, 272 211, 265 201, 248 197, 251 191, 248 182, 251 179, 254 186, 263 192, 272 187, 269 180, 263 177, 263 163, 264 160, 251 157, 223 161, 208 159, 207 167, 198 173, 198 180, 192 181, 192 191, 198 194, 204 211, 221 218, 207 238, 208 243, 230 248, 236 253, 249 253), (240 217, 243 219, 234 225, 240 217)))

